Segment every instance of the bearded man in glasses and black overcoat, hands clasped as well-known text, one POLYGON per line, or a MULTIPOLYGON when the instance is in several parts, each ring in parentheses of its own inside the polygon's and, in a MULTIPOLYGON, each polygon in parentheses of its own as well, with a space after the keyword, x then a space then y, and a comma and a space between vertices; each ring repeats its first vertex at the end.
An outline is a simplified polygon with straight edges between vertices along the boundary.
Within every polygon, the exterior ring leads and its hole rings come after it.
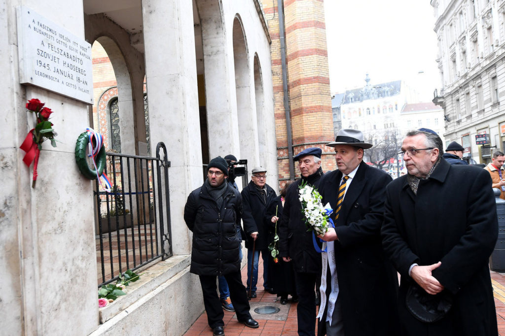
POLYGON ((383 247, 401 275, 403 334, 496 335, 489 255, 498 234, 491 179, 450 165, 436 134, 411 131, 408 170, 386 188, 383 247), (455 210, 455 211, 451 211, 455 210))

